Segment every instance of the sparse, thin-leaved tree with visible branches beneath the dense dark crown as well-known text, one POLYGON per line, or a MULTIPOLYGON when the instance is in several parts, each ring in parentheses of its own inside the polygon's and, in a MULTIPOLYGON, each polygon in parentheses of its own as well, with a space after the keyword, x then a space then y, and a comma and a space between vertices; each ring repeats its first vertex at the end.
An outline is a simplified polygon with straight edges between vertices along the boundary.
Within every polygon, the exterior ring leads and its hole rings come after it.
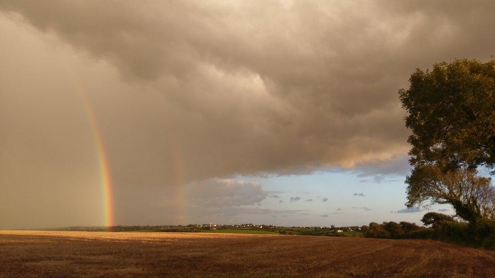
POLYGON ((457 216, 476 223, 495 216, 495 189, 490 178, 480 177, 476 169, 457 169, 444 173, 433 165, 416 166, 406 178, 407 207, 450 204, 457 216))

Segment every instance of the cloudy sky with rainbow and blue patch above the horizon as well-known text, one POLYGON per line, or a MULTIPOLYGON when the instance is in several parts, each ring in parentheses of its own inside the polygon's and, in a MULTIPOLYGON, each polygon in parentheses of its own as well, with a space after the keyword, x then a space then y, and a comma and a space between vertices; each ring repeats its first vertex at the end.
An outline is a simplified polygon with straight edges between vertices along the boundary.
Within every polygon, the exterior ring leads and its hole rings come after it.
POLYGON ((493 12, 0 1, 0 229, 419 223, 398 90, 416 68, 490 59, 493 12))

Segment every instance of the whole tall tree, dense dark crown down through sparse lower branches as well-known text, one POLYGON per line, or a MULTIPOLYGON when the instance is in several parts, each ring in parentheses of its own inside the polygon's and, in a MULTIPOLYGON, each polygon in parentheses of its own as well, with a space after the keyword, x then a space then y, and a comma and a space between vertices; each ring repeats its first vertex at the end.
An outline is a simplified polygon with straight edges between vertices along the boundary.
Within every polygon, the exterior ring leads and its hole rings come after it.
POLYGON ((406 205, 450 204, 470 223, 493 218, 494 190, 476 168, 495 167, 495 58, 437 63, 409 81, 399 91, 412 131, 406 205))

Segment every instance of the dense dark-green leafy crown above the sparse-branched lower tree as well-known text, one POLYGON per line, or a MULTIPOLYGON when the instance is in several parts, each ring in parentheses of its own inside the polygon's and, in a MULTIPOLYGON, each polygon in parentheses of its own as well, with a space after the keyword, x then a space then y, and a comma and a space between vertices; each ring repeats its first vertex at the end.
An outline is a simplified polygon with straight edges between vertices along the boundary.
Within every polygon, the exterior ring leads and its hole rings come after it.
MULTIPOLYGON (((493 56, 492 56, 493 57, 493 56)), ((495 166, 495 59, 455 59, 416 71, 400 101, 411 165, 435 164, 443 171, 495 166)))

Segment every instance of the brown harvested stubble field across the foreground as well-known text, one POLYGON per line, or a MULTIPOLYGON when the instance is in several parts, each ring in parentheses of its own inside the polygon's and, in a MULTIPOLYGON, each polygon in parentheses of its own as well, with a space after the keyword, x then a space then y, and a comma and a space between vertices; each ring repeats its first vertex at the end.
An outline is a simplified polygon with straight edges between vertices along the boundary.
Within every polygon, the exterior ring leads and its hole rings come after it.
POLYGON ((495 276, 495 252, 427 240, 0 231, 0 276, 495 276))

